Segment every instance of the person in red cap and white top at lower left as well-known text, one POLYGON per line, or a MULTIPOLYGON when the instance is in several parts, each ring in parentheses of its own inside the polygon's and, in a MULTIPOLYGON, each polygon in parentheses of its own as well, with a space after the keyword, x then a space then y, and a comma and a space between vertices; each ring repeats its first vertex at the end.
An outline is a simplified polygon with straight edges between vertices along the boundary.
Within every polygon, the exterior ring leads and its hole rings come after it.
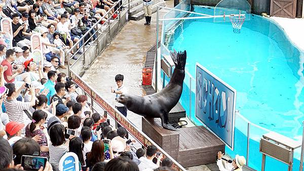
POLYGON ((8 136, 8 141, 10 145, 12 146, 16 141, 22 139, 21 137, 21 130, 24 127, 24 123, 18 123, 15 121, 10 121, 5 126, 5 132, 8 136))

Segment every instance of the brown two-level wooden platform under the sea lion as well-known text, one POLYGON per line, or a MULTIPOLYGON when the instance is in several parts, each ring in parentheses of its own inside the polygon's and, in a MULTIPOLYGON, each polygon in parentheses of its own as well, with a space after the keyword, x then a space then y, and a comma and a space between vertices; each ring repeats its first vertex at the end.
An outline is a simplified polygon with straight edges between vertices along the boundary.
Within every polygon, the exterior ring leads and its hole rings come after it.
POLYGON ((204 126, 183 127, 178 132, 163 129, 160 118, 142 118, 142 131, 182 166, 214 163, 225 145, 204 126))

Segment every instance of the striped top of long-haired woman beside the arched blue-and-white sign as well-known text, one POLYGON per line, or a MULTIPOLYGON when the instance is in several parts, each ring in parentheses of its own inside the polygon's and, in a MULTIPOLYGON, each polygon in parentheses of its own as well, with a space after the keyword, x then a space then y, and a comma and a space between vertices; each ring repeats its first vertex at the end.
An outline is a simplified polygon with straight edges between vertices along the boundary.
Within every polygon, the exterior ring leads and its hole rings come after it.
POLYGON ((64 144, 60 146, 53 146, 52 144, 49 146, 50 152, 50 163, 54 164, 57 169, 59 167, 59 161, 61 157, 68 152, 68 147, 64 144))

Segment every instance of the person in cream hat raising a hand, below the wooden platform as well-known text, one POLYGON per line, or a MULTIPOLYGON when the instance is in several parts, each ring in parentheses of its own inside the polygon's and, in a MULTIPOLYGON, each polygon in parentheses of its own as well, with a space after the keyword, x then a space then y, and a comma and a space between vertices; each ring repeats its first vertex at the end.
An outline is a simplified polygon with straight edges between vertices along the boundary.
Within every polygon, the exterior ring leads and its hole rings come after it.
MULTIPOLYGON (((226 167, 225 168, 224 165, 223 165, 223 162, 221 160, 223 155, 224 154, 221 151, 219 151, 217 153, 218 159, 217 159, 216 164, 217 164, 218 169, 220 171, 230 171, 230 170, 242 171, 243 170, 242 167, 243 167, 244 164, 246 164, 246 159, 245 159, 244 156, 239 156, 237 154, 236 157, 232 160, 231 164, 225 164, 225 167, 226 167)), ((224 161, 224 162, 226 162, 226 161, 224 161)))

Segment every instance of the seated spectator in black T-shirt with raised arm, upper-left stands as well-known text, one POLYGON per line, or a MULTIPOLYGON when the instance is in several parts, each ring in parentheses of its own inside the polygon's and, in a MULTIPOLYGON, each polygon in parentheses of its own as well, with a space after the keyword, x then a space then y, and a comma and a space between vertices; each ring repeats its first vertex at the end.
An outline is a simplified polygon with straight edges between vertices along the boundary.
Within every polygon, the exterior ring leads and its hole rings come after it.
POLYGON ((23 32, 26 32, 26 23, 19 23, 20 16, 18 14, 13 15, 12 28, 13 28, 13 46, 20 48, 27 46, 30 48, 30 40, 24 37, 23 32))

